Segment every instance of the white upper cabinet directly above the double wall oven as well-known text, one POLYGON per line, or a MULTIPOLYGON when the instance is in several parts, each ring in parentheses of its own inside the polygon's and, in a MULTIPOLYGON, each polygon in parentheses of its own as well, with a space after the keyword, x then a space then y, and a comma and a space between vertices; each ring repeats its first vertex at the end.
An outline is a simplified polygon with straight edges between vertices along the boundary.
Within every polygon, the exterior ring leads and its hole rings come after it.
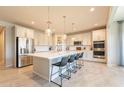
POLYGON ((105 40, 105 29, 95 30, 92 32, 93 41, 105 40))

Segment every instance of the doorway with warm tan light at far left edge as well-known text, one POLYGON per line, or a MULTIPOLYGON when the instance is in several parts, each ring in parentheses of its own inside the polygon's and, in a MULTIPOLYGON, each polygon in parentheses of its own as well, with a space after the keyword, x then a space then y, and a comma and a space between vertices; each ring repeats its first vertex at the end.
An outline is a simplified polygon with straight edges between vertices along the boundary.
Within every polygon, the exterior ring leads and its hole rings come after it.
POLYGON ((5 30, 0 26, 0 69, 5 67, 5 30))

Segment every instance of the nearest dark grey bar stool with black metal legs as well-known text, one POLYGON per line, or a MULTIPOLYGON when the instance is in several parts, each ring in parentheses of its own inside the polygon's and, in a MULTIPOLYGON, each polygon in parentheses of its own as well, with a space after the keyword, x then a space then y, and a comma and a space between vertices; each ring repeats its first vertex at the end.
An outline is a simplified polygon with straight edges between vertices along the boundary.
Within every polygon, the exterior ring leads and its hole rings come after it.
POLYGON ((52 64, 51 75, 50 75, 50 81, 53 82, 54 84, 57 84, 57 85, 60 86, 60 87, 62 87, 62 85, 63 85, 63 82, 62 82, 63 78, 66 78, 66 79, 68 79, 68 80, 70 79, 70 76, 69 76, 70 72, 68 71, 68 65, 67 65, 68 59, 69 59, 68 56, 62 57, 61 62, 52 64), (58 84, 58 83, 56 83, 55 81, 52 80, 52 76, 57 73, 57 72, 56 72, 56 73, 53 74, 53 67, 54 67, 54 66, 59 67, 59 77, 60 77, 60 80, 61 80, 60 84, 58 84), (66 66, 66 71, 68 72, 68 75, 64 75, 64 74, 62 73, 62 69, 63 69, 63 67, 65 67, 65 66, 66 66))

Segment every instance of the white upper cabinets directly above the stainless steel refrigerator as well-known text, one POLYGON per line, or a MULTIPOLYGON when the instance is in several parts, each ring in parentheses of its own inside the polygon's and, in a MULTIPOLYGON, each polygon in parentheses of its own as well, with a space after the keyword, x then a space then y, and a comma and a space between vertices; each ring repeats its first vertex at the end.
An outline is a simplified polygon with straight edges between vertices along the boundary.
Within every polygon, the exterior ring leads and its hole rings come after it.
POLYGON ((21 26, 15 26, 16 36, 18 37, 27 37, 27 38, 34 38, 34 30, 28 29, 21 26))

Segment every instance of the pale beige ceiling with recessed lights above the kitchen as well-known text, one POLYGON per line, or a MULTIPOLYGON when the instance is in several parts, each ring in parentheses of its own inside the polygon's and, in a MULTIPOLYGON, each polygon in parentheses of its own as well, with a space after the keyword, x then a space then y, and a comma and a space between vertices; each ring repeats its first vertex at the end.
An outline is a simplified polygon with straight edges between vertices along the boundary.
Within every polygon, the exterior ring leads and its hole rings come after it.
MULTIPOLYGON (((66 33, 83 31, 86 29, 105 26, 107 24, 108 6, 51 6, 50 28, 55 33, 63 33, 66 16, 66 33), (94 11, 90 11, 94 8, 94 11), (72 30, 72 23, 75 23, 72 30)), ((28 26, 45 31, 48 21, 48 7, 46 6, 1 6, 0 20, 28 26), (33 21, 33 23, 32 23, 33 21)))

